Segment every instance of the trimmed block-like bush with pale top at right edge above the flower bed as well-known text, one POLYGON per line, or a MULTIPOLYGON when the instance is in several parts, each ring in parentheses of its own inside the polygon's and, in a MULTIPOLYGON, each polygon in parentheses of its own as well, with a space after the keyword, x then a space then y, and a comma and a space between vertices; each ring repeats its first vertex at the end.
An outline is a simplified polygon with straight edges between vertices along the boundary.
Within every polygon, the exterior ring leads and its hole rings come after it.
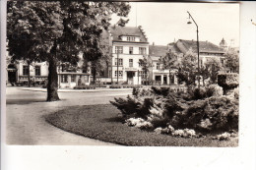
POLYGON ((218 85, 224 88, 224 94, 239 85, 239 75, 236 73, 224 73, 218 75, 218 85))

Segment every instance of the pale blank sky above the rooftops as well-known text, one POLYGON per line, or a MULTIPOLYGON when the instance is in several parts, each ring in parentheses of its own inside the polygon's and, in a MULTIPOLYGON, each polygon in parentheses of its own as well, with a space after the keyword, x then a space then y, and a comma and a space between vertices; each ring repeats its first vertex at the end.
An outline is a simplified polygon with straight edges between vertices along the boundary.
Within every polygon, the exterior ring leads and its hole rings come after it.
MULTIPOLYGON (((237 3, 165 3, 130 2, 131 11, 126 26, 142 26, 149 42, 166 45, 178 39, 196 40, 195 24, 187 25, 188 13, 199 28, 199 40, 219 45, 224 38, 227 45, 239 46, 239 4, 237 3), (137 8, 137 22, 136 22, 137 8), (233 39, 231 43, 231 39, 233 39)), ((113 16, 111 23, 118 21, 113 16)))

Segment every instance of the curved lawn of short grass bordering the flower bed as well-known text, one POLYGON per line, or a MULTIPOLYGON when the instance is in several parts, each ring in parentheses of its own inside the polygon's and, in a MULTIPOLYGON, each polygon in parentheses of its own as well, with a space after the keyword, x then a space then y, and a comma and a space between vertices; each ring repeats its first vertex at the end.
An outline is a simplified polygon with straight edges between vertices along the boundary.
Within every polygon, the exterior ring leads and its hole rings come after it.
POLYGON ((110 104, 67 107, 65 110, 47 115, 45 119, 64 131, 121 145, 218 147, 238 145, 238 139, 217 141, 212 140, 212 136, 183 139, 128 127, 122 123, 119 110, 110 104))

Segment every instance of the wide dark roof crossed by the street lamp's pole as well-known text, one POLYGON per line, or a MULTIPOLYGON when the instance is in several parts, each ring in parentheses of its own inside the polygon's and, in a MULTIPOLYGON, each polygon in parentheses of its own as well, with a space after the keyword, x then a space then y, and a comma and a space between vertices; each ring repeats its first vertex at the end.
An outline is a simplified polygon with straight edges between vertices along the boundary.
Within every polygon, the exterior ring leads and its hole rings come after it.
MULTIPOLYGON (((197 51, 197 41, 195 40, 184 40, 179 39, 178 41, 182 42, 187 50, 192 48, 194 52, 197 51)), ((219 47, 218 45, 213 44, 209 41, 199 41, 199 51, 200 52, 220 52, 224 53, 224 49, 219 47)))

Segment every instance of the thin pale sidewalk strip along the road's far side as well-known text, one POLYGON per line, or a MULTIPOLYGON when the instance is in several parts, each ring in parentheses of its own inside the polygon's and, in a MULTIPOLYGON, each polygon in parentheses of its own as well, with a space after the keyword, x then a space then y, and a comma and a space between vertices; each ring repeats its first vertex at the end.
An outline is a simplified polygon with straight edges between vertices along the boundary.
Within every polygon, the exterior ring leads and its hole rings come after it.
MULTIPOLYGON (((42 91, 46 92, 47 88, 42 87, 19 87, 22 90, 42 91)), ((96 92, 96 91, 126 91, 132 88, 97 88, 97 89, 72 89, 72 88, 59 88, 58 92, 96 92)))

